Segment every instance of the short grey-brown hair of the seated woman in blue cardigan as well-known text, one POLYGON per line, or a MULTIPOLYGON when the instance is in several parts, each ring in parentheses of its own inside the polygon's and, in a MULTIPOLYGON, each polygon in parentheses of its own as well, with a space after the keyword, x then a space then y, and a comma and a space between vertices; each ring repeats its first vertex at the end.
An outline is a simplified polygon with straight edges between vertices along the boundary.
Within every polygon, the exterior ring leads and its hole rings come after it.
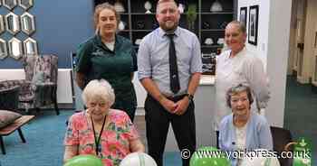
POLYGON ((254 97, 252 97, 251 88, 249 88, 248 86, 245 86, 243 84, 239 84, 237 86, 229 88, 226 91, 226 106, 229 106, 231 108, 231 97, 233 95, 239 94, 241 92, 246 92, 247 98, 248 98, 250 106, 251 106, 254 102, 254 97))

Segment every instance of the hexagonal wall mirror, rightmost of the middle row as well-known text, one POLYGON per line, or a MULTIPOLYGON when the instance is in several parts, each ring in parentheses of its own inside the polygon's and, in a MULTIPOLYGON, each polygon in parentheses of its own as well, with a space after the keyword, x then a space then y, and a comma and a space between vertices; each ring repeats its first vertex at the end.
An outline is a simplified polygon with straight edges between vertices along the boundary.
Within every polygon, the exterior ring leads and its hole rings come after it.
POLYGON ((21 15, 21 30, 28 35, 35 32, 34 16, 29 13, 24 13, 21 15))

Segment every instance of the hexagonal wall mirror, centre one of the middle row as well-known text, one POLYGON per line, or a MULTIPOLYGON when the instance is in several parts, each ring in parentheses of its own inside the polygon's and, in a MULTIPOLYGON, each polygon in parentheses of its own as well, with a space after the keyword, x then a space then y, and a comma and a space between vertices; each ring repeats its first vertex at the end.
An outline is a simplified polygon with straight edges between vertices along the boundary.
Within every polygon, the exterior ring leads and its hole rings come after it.
POLYGON ((13 35, 20 31, 20 21, 19 16, 10 12, 5 15, 6 31, 12 33, 13 35))

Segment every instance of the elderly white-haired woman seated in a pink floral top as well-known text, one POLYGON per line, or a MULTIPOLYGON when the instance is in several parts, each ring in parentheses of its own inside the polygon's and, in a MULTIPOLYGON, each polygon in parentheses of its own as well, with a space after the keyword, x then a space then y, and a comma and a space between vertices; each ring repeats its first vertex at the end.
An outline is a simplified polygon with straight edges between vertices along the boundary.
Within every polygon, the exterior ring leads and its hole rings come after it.
POLYGON ((70 118, 64 139, 64 161, 80 154, 93 154, 104 165, 117 166, 130 152, 144 152, 129 115, 110 109, 115 96, 106 80, 91 80, 83 89, 82 99, 87 109, 70 118))

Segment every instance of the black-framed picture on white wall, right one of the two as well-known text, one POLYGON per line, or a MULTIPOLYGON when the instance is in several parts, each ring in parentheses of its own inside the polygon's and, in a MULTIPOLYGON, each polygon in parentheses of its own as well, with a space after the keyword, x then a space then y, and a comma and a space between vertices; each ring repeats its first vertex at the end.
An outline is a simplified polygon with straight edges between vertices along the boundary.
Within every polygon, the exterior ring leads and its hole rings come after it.
POLYGON ((249 27, 248 27, 248 42, 257 45, 257 33, 259 23, 259 5, 249 7, 249 27))

